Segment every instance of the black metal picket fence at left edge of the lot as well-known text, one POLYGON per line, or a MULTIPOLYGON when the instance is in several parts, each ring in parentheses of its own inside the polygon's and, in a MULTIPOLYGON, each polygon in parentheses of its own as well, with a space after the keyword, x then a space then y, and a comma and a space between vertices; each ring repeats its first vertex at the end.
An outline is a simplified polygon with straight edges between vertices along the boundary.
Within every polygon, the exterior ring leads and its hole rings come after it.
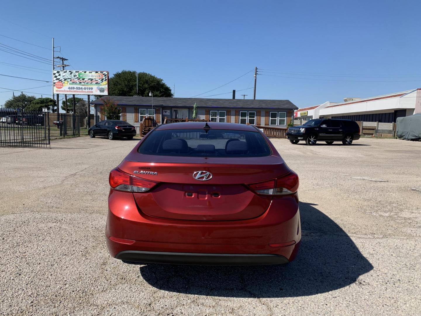
POLYGON ((51 139, 80 135, 80 115, 13 111, 0 118, 0 146, 49 147, 51 139))

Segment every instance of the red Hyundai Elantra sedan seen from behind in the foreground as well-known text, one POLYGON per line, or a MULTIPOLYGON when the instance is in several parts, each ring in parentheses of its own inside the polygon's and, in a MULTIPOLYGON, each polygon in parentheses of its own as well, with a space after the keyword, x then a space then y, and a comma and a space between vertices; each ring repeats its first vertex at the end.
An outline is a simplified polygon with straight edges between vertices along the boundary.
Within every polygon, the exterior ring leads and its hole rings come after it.
POLYGON ((254 126, 160 125, 109 184, 107 246, 117 259, 269 265, 300 246, 298 176, 254 126))

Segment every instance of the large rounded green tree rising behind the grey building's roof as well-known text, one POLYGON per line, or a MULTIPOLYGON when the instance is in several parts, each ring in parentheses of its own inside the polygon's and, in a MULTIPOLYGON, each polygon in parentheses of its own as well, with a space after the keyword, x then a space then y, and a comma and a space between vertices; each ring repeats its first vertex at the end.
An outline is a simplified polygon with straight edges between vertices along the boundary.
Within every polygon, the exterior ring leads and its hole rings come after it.
MULTIPOLYGON (((147 72, 139 72, 137 77, 139 96, 149 96, 149 92, 152 92, 153 96, 162 96, 167 98, 171 98, 173 96, 171 88, 167 86, 162 79, 147 72)), ((109 95, 136 95, 136 72, 133 70, 122 70, 120 72, 116 72, 109 79, 109 95)))

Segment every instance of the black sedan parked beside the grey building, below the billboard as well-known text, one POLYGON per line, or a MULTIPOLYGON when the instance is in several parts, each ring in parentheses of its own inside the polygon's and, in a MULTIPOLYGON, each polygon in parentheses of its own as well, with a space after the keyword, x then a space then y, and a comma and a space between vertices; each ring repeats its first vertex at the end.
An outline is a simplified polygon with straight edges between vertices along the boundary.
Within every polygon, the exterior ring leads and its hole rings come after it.
POLYGON ((136 136, 136 127, 130 125, 125 121, 120 120, 106 120, 96 123, 88 129, 89 137, 106 136, 108 139, 118 139, 126 137, 133 139, 136 136))

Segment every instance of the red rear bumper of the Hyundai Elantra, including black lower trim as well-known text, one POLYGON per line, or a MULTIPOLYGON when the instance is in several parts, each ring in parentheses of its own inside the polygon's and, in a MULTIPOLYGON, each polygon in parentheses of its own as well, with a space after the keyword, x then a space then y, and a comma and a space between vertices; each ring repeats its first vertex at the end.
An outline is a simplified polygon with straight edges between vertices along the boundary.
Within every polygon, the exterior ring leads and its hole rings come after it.
POLYGON ((264 214, 249 220, 193 221, 151 217, 137 207, 132 193, 115 190, 110 191, 108 205, 107 247, 112 257, 121 260, 212 265, 278 264, 296 257, 301 240, 297 195, 274 198, 264 214))

